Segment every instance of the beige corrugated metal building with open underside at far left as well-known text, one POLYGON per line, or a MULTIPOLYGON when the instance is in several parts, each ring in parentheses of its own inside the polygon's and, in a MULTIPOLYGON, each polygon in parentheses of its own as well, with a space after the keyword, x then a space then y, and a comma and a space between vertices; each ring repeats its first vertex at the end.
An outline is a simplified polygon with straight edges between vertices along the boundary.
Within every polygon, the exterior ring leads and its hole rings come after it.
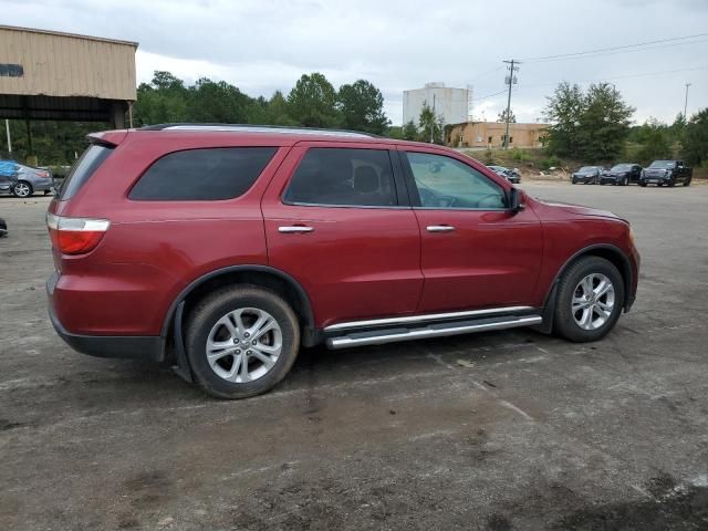
POLYGON ((125 126, 136 42, 0 25, 0 118, 125 126))

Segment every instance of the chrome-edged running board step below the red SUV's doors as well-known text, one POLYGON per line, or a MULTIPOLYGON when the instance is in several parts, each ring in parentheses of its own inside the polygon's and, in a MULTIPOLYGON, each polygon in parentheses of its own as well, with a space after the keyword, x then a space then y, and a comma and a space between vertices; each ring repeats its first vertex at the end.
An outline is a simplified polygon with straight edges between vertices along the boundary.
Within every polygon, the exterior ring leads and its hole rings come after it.
MULTIPOLYGON (((510 309, 506 309, 507 312, 510 309)), ((525 310, 525 308, 523 310, 525 310)), ((428 316, 428 319, 429 317, 430 316, 428 316)), ((431 323, 428 325, 420 325, 420 323, 418 323, 418 327, 410 329, 398 327, 374 330, 371 332, 351 332, 339 337, 330 337, 326 340, 326 344, 330 348, 346 348, 350 346, 363 345, 383 345, 385 343, 394 343, 397 341, 424 340, 429 337, 444 337, 447 335, 467 334, 472 332, 486 332, 490 330, 533 326, 535 324, 541 324, 542 321, 543 317, 541 317, 541 315, 504 315, 499 317, 477 319, 470 321, 431 323)), ((325 329, 325 332, 331 330, 332 327, 327 327, 325 329)))

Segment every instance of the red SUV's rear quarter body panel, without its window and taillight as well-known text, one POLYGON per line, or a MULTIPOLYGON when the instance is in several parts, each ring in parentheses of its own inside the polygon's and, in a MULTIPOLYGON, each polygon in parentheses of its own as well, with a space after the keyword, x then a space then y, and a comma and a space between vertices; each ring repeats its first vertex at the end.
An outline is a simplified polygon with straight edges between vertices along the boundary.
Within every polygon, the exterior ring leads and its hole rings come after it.
POLYGON ((94 251, 54 257, 62 270, 55 311, 70 332, 158 335, 169 305, 191 281, 227 266, 268 263, 260 200, 290 147, 274 146, 261 176, 238 198, 135 201, 127 197, 132 186, 165 154, 239 146, 233 135, 128 135, 74 198, 50 206, 61 216, 111 220, 94 251))

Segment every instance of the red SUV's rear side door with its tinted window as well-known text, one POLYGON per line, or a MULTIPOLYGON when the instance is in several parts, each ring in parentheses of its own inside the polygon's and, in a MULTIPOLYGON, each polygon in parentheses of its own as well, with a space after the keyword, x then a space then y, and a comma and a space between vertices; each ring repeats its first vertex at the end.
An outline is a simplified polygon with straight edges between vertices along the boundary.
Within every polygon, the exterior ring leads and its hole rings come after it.
MULTIPOLYGON (((299 144, 262 200, 269 263, 302 284, 317 326, 413 313, 423 289, 416 217, 408 206, 398 206, 397 198, 391 201, 395 205, 388 205, 388 188, 395 179, 389 181, 381 165, 369 167, 366 156, 353 157, 348 166, 342 160, 332 163, 326 176, 316 176, 316 186, 290 186, 299 183, 299 167, 317 169, 316 159, 305 158, 310 149, 342 147, 352 144, 299 144), (306 204, 310 192, 327 202, 341 200, 347 205, 306 204), (298 202, 287 204, 282 197, 285 201, 296 198, 298 202), (377 206, 354 205, 357 201, 377 206)), ((388 152, 381 145, 356 147, 376 149, 376 160, 381 154, 388 159, 388 152)))

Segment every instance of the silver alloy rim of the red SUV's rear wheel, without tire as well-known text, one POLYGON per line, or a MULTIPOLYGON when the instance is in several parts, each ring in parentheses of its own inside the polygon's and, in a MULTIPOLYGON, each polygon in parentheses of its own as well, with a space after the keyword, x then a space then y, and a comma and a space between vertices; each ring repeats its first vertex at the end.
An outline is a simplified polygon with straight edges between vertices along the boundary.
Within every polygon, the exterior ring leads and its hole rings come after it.
POLYGON ((207 336, 207 361, 219 377, 243 384, 263 377, 283 347, 278 321, 257 308, 241 308, 219 319, 207 336))

